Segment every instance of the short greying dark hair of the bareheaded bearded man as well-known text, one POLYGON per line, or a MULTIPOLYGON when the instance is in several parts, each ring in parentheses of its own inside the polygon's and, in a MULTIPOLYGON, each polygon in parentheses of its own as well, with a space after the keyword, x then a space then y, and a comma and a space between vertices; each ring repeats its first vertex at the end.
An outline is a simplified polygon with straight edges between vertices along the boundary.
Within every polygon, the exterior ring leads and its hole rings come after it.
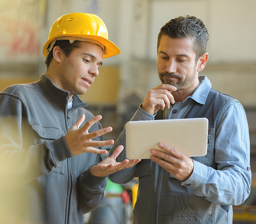
POLYGON ((170 38, 191 37, 194 41, 196 60, 206 53, 209 34, 203 20, 198 19, 195 16, 179 16, 175 19, 171 19, 169 22, 163 25, 158 34, 157 52, 162 35, 167 35, 170 38))

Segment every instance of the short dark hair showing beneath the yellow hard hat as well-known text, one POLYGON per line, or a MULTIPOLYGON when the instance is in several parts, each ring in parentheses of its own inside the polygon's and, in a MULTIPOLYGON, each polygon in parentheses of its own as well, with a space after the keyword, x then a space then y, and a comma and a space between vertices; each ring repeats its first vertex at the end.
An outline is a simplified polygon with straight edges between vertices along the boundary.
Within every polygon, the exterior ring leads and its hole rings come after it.
POLYGON ((63 50, 64 54, 68 57, 71 54, 71 52, 75 50, 75 48, 80 47, 80 43, 81 42, 79 40, 75 40, 72 44, 69 42, 69 40, 57 40, 56 43, 53 45, 52 50, 49 52, 45 59, 46 68, 49 68, 50 63, 53 59, 53 48, 55 46, 59 46, 61 50, 63 50))

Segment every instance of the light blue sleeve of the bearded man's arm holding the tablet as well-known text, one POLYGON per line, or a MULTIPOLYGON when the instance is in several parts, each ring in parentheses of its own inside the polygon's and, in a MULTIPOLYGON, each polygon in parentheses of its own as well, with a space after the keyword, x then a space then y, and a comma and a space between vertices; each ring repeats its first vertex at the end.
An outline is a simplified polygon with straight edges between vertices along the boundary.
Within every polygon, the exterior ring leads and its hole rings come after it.
POLYGON ((238 102, 223 113, 215 135, 214 158, 217 169, 193 160, 193 173, 182 185, 213 203, 244 203, 251 185, 250 143, 245 111, 238 102))

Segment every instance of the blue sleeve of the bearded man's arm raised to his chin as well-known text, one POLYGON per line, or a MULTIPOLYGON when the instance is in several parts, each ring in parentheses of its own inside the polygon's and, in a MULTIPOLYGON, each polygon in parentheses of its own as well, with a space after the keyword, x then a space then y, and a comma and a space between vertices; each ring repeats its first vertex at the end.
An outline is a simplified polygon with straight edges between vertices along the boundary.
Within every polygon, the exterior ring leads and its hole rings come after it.
MULTIPOLYGON (((146 120, 154 120, 155 115, 148 114, 144 111, 141 106, 133 115, 130 121, 146 121, 146 120)), ((124 150, 120 153, 120 155, 116 158, 117 162, 122 162, 126 159, 126 132, 125 126, 122 133, 119 135, 117 141, 114 143, 113 147, 109 151, 109 156, 111 156, 117 146, 123 145, 124 150)), ((115 173, 110 174, 108 177, 109 179, 117 184, 126 184, 134 178, 134 173, 136 170, 136 165, 132 166, 128 169, 119 170, 115 173)))

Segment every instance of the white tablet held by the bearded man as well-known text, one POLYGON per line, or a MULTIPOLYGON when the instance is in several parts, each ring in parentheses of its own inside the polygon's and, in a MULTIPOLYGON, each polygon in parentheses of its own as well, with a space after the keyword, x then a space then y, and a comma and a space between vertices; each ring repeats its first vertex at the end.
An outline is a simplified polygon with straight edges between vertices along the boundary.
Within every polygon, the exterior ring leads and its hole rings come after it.
POLYGON ((158 147, 160 142, 189 157, 205 156, 207 136, 207 118, 129 121, 126 124, 126 157, 149 159, 151 149, 164 151, 158 147))

